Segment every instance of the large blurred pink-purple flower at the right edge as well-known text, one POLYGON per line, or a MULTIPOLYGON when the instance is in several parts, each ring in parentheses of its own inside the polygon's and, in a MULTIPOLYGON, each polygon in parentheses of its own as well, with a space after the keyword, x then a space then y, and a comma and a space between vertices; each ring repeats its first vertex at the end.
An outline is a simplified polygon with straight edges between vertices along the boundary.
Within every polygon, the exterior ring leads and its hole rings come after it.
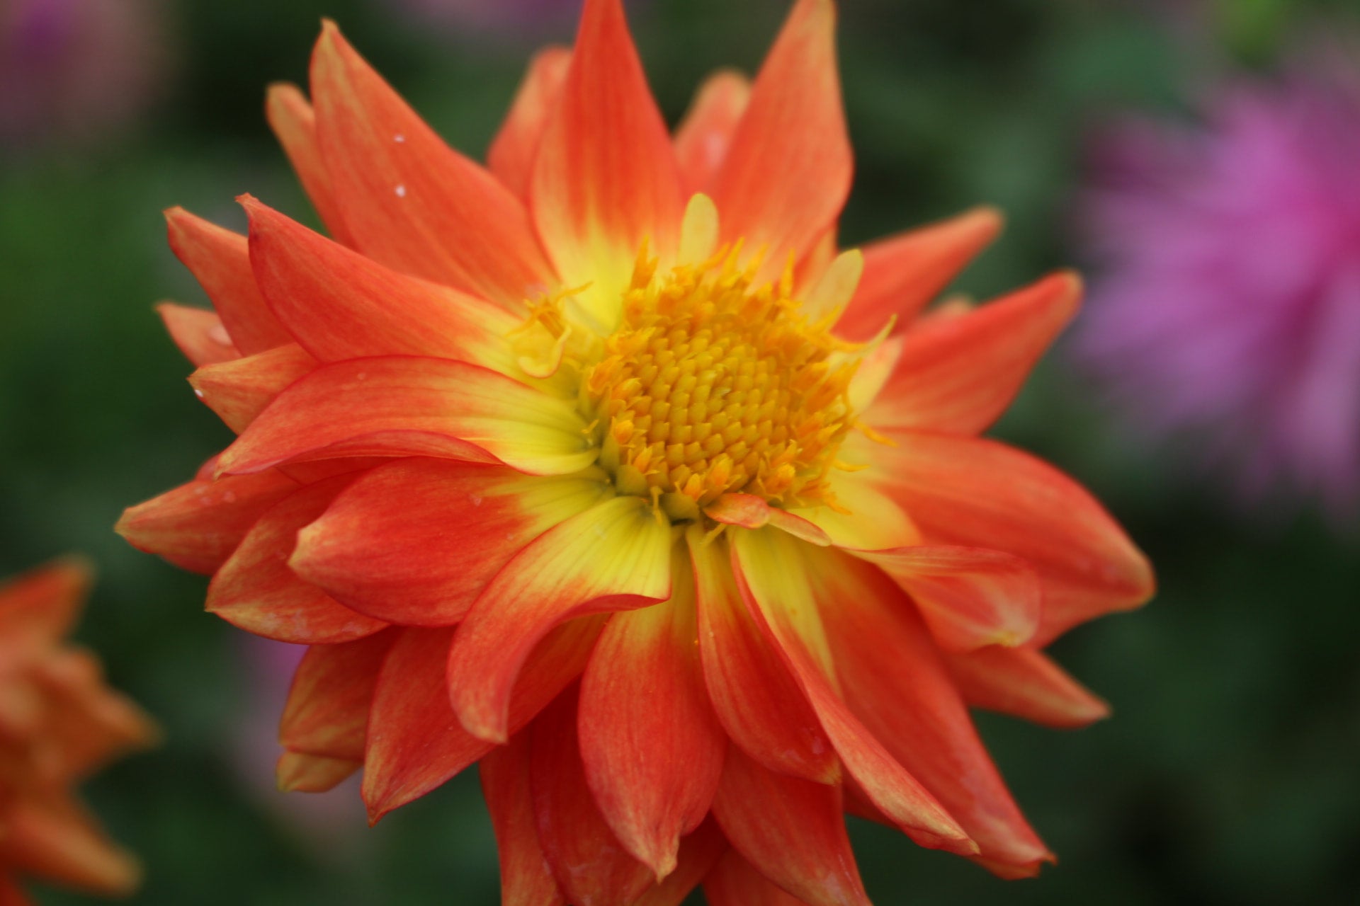
POLYGON ((1099 145, 1077 355, 1248 501, 1360 503, 1360 73, 1319 54, 1099 145))

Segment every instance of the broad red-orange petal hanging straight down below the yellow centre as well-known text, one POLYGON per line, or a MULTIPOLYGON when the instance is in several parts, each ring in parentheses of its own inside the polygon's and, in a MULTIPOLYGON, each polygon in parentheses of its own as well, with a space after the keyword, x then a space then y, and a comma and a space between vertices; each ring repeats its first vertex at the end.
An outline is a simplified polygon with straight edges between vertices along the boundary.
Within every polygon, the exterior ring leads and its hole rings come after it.
POLYGON ((703 687, 685 566, 672 566, 670 600, 609 619, 581 679, 586 780, 623 848, 657 880, 709 814, 728 748, 703 687))

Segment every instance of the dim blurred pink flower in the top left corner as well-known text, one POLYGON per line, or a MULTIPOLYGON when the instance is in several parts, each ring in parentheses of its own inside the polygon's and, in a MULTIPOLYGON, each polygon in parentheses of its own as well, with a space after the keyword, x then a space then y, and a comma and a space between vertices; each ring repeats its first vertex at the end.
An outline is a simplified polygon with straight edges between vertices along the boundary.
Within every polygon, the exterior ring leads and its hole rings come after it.
POLYGON ((122 125, 155 94, 166 57, 158 0, 4 0, 0 143, 122 125))

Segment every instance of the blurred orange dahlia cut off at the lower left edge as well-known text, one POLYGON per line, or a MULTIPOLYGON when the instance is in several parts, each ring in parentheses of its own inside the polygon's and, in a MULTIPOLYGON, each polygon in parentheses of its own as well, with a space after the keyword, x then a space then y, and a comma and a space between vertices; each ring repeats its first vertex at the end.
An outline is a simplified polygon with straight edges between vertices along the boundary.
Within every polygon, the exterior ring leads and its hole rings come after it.
POLYGON ((0 585, 0 903, 29 899, 16 876, 125 895, 136 860, 71 793, 73 784, 158 736, 140 708, 103 682, 98 659, 63 642, 90 569, 60 560, 0 585))

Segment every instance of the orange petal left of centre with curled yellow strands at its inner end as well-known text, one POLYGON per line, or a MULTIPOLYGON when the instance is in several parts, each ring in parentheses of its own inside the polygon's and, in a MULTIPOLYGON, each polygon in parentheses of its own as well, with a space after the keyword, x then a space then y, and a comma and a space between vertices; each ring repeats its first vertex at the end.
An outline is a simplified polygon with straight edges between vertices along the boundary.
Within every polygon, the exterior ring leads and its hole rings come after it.
POLYGON ((269 308, 322 361, 438 356, 507 371, 505 336, 521 319, 503 308, 389 270, 250 196, 250 264, 269 308))

